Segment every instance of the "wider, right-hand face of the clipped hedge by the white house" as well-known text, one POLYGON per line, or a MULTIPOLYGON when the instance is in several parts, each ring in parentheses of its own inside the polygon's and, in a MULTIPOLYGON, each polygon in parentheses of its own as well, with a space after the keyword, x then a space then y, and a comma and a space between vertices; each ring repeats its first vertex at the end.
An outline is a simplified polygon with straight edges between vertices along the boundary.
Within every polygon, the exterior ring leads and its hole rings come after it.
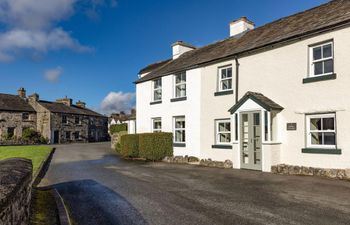
POLYGON ((173 156, 173 134, 163 132, 140 134, 139 153, 141 158, 152 161, 173 156))

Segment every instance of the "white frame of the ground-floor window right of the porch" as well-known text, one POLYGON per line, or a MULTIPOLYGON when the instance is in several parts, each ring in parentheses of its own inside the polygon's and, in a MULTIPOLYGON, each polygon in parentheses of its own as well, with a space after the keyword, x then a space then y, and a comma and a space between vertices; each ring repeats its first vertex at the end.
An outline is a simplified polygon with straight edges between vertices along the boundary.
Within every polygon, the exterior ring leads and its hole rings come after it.
MULTIPOLYGON (((322 126, 322 125, 321 125, 322 126)), ((323 140, 324 141, 324 140, 323 140)), ((337 149, 337 117, 336 113, 319 113, 319 114, 307 114, 306 115, 306 147, 314 149, 337 149), (333 118, 334 119, 334 130, 311 130, 311 119, 333 118), (311 133, 334 133, 334 145, 325 144, 312 144, 311 133)))

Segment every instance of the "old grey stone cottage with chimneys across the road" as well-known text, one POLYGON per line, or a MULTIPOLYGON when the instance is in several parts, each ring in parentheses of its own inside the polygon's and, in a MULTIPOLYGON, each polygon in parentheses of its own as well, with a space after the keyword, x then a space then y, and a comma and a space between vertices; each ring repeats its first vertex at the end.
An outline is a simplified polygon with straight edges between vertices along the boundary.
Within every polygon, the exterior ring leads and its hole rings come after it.
POLYGON ((86 108, 84 102, 73 104, 73 100, 67 97, 55 102, 44 101, 36 93, 27 97, 25 89, 21 88, 18 96, 0 95, 0 116, 1 119, 8 118, 7 122, 0 123, 3 137, 21 137, 21 131, 31 122, 30 128, 40 132, 52 144, 109 139, 108 118, 86 108))

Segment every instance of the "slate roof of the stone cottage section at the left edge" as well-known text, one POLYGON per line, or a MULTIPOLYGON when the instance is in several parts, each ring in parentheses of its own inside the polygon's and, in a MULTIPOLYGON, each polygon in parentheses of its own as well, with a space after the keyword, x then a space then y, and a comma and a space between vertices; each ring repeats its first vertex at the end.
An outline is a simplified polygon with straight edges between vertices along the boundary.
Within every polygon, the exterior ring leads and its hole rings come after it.
POLYGON ((0 94, 0 111, 35 112, 24 99, 9 94, 0 94))

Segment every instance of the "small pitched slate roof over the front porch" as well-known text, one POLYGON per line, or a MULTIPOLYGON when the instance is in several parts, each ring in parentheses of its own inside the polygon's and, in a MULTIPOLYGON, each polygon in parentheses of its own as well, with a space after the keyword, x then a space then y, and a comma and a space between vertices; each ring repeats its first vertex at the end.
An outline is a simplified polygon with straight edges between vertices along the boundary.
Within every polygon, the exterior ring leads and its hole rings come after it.
POLYGON ((283 107, 272 101, 268 97, 258 92, 248 91, 232 108, 229 110, 231 114, 235 113, 239 107, 241 107, 248 99, 252 99, 267 111, 271 110, 283 110, 283 107))

